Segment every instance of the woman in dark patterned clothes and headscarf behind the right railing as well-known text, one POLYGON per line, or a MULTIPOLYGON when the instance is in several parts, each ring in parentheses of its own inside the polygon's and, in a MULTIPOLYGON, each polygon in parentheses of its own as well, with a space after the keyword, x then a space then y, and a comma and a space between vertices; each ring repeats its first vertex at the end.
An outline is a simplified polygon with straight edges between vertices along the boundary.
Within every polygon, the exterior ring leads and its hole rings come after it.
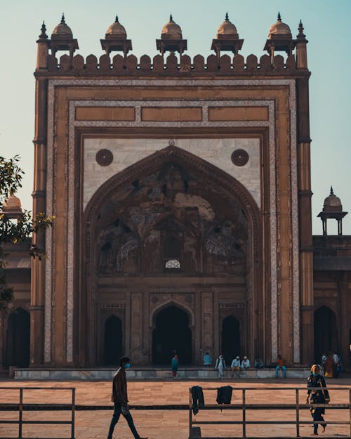
POLYGON ((311 367, 310 378, 307 379, 307 398, 306 404, 311 404, 311 414, 315 424, 313 424, 313 434, 318 435, 318 424, 326 429, 326 422, 323 419, 325 412, 324 407, 315 407, 314 404, 328 404, 330 401, 329 392, 326 390, 326 381, 324 377, 319 374, 319 365, 311 367))

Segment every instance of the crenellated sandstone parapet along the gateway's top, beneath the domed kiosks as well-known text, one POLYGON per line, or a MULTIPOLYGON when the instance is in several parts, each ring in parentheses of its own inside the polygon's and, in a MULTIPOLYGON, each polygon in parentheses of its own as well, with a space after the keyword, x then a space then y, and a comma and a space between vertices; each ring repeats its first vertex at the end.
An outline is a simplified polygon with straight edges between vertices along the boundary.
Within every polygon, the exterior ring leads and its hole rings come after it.
MULTIPOLYGON (((296 61, 294 55, 289 55, 284 60, 282 55, 275 55, 271 58, 269 55, 262 55, 259 59, 256 55, 249 55, 246 59, 242 55, 222 55, 217 58, 216 55, 209 55, 206 59, 202 55, 196 55, 190 58, 188 55, 182 55, 178 59, 176 55, 168 55, 164 58, 161 55, 155 55, 150 58, 143 55, 136 58, 129 55, 126 58, 122 55, 101 55, 97 58, 95 55, 88 55, 86 59, 81 55, 70 57, 62 55, 60 59, 54 55, 48 55, 47 73, 54 75, 77 75, 77 76, 95 76, 95 75, 154 75, 164 74, 166 76, 187 76, 191 74, 224 74, 224 75, 282 75, 301 73, 296 70, 296 61)), ((43 71, 41 75, 45 74, 43 71)))

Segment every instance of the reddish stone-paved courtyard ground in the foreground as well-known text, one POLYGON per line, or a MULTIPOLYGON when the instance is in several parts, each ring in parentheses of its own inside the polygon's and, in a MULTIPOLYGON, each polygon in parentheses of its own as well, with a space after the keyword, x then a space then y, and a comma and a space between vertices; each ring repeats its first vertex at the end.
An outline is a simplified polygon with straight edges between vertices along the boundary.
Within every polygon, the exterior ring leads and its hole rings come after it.
MULTIPOLYGON (((295 391, 293 388, 305 387, 305 380, 301 379, 279 379, 279 380, 246 380, 235 379, 223 381, 129 381, 128 397, 131 405, 164 405, 164 404, 188 404, 191 386, 199 385, 204 388, 218 388, 218 386, 231 385, 234 387, 233 403, 241 402, 241 391, 239 388, 258 388, 257 390, 246 391, 247 403, 294 403, 295 391), (272 388, 272 390, 267 390, 272 388), (291 390, 282 390, 289 388, 291 390), (237 389, 237 390, 235 390, 237 389)), ((331 402, 348 403, 351 379, 330 379, 327 386, 331 392, 331 402), (341 387, 343 390, 333 390, 341 387)), ((51 391, 50 387, 75 387, 76 403, 79 405, 111 405, 111 383, 107 381, 13 381, 5 379, 0 381, 0 386, 6 390, 0 390, 0 402, 18 402, 18 391, 10 389, 11 386, 26 387, 45 387, 41 391, 25 391, 24 402, 69 402, 69 391, 51 391)), ((216 391, 204 391, 206 404, 216 404, 216 391)), ((300 402, 305 402, 305 391, 300 391, 300 402)), ((150 439, 187 439, 189 436, 189 412, 187 410, 166 411, 166 410, 132 410, 135 426, 140 435, 148 436, 150 439)), ((76 412, 76 431, 77 439, 105 439, 108 426, 112 417, 110 411, 87 411, 76 412)), ((247 420, 294 420, 296 417, 293 410, 260 410, 248 411, 247 420)), ((327 409, 326 421, 349 421, 350 413, 348 410, 327 409)), ((0 412, 0 419, 18 419, 16 412, 0 412)), ((25 412, 24 418, 27 420, 68 420, 68 412, 25 412)), ((197 421, 239 421, 241 420, 240 410, 203 410, 197 414, 197 421)), ((310 421, 310 412, 301 410, 300 420, 310 421)), ((319 428, 321 430, 321 428, 319 428)), ((312 432, 310 425, 300 427, 300 435, 307 436, 312 432)), ((228 436, 242 436, 242 427, 239 425, 225 426, 201 426, 202 436, 223 438, 228 436)), ((296 429, 293 426, 268 425, 268 426, 247 426, 247 436, 295 436, 296 429)), ((18 426, 0 424, 0 438, 17 437, 18 426)), ((348 437, 350 429, 348 426, 327 426, 326 433, 319 432, 325 437, 336 435, 348 437)), ((25 438, 70 438, 69 426, 23 426, 23 436, 25 438)), ((114 438, 133 439, 125 419, 121 417, 114 431, 114 438)))

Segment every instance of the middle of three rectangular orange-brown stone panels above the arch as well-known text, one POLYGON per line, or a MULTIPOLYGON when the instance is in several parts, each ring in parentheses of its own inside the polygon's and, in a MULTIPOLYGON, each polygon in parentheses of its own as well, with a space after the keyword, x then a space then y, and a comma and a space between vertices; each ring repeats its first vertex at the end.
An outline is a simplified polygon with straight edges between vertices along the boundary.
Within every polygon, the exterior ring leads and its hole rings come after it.
POLYGON ((144 107, 141 112, 143 121, 155 122, 192 122, 202 120, 201 107, 144 107))

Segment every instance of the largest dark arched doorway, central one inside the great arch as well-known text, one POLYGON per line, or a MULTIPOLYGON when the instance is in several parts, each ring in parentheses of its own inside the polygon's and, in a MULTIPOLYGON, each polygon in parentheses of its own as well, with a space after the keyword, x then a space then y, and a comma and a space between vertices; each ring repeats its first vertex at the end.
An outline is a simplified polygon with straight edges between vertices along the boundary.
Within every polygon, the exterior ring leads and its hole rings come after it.
POLYGON ((181 365, 192 362, 192 331, 187 313, 178 306, 159 311, 152 332, 152 362, 170 365, 176 350, 181 365))

